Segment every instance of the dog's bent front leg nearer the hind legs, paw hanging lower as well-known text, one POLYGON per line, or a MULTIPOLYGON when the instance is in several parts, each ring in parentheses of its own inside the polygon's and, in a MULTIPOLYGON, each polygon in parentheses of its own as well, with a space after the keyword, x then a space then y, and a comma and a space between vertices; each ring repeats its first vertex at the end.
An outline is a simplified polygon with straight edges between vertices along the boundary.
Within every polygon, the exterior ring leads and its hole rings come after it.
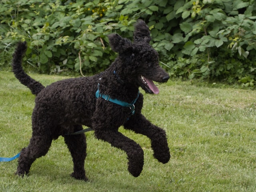
MULTIPOLYGON (((107 126, 106 126, 107 127, 107 126)), ((95 136, 98 139, 110 143, 116 148, 124 150, 128 156, 128 171, 134 176, 138 177, 143 169, 144 152, 139 144, 130 138, 124 136, 117 130, 110 128, 95 129, 95 136)))

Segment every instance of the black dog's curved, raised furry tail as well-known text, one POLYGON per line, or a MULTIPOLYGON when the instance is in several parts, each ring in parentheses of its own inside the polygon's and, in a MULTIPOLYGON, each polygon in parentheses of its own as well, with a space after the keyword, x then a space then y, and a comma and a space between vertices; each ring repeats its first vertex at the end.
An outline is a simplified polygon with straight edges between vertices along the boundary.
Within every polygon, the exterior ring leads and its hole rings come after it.
POLYGON ((12 59, 12 71, 15 74, 15 77, 25 86, 30 88, 32 94, 37 95, 41 90, 44 89, 44 86, 32 79, 22 68, 22 56, 25 54, 27 50, 26 42, 19 42, 17 48, 13 54, 12 59))

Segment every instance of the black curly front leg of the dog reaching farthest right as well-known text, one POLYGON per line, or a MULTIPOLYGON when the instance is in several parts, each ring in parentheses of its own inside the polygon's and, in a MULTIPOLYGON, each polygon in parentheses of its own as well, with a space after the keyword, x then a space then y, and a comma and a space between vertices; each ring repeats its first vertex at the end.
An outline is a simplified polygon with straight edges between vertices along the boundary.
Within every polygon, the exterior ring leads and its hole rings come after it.
POLYGON ((151 140, 154 158, 159 162, 167 163, 170 160, 170 151, 165 131, 153 125, 142 114, 135 114, 124 124, 125 129, 146 135, 151 140))

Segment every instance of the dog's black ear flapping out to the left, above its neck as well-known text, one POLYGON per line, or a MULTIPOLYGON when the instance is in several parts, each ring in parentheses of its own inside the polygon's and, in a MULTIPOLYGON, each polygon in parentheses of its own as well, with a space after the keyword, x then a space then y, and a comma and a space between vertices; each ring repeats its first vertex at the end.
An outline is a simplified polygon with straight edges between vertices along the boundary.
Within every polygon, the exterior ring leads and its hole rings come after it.
POLYGON ((114 52, 123 53, 132 50, 132 42, 127 38, 122 38, 118 34, 108 35, 109 45, 114 52))

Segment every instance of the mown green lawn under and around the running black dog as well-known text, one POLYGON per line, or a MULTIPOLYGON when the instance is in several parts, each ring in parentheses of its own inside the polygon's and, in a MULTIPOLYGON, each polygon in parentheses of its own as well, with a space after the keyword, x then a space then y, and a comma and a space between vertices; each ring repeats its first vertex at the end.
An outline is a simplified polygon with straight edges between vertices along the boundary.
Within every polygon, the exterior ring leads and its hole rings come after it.
MULTIPOLYGON (((31 76, 44 85, 64 78, 31 76)), ((166 130, 172 155, 167 164, 153 158, 148 138, 120 128, 144 149, 144 169, 134 178, 123 151, 87 132, 89 182, 69 176, 72 158, 60 137, 24 178, 14 175, 17 160, 0 162, 0 191, 256 191, 256 92, 173 80, 159 89, 159 95, 144 94, 143 114, 166 130)), ((28 145, 33 106, 30 90, 12 73, 0 72, 0 156, 14 156, 28 145)))

